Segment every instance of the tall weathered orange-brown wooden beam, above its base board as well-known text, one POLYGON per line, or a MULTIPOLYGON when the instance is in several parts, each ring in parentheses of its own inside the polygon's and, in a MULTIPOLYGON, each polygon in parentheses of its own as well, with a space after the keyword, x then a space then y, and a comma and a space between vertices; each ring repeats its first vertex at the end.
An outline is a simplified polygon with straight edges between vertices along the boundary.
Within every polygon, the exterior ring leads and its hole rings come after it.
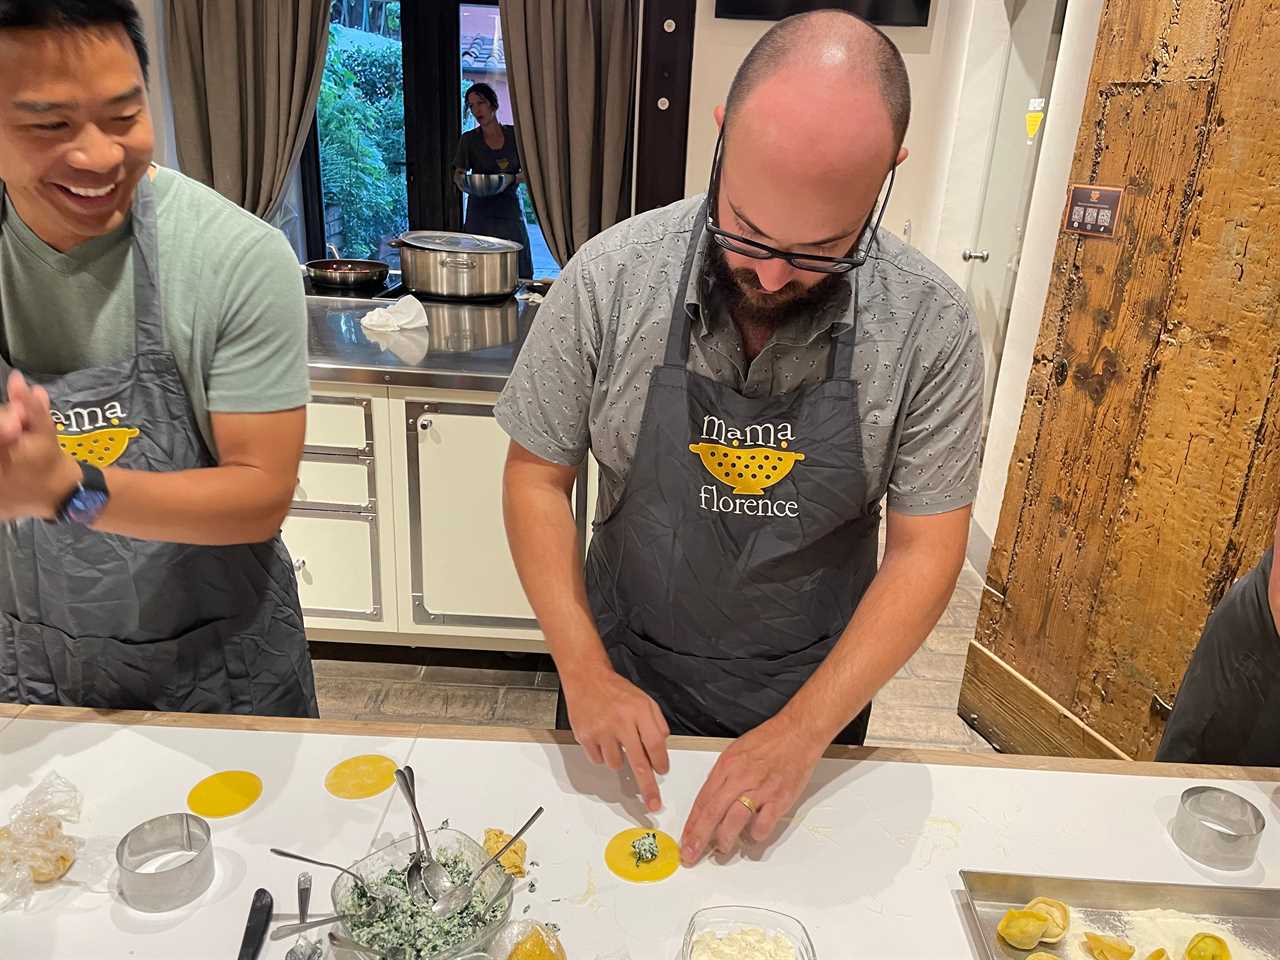
POLYGON ((1071 179, 1120 229, 1059 241, 987 570, 977 640, 1134 756, 1280 506, 1277 45, 1280 0, 1106 5, 1071 179))

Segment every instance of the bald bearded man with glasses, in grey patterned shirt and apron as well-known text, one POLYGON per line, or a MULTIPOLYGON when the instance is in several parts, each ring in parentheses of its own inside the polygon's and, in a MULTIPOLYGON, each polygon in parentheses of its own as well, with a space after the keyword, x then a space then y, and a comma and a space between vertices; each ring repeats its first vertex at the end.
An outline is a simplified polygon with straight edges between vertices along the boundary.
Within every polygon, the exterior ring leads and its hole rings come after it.
POLYGON ((964 563, 977 325, 878 229, 909 113, 874 28, 832 10, 774 26, 717 110, 707 196, 577 252, 497 407, 558 726, 594 762, 626 760, 652 810, 669 733, 735 740, 689 815, 686 864, 768 838, 823 750, 863 741, 964 563), (584 576, 570 492, 589 449, 584 576))

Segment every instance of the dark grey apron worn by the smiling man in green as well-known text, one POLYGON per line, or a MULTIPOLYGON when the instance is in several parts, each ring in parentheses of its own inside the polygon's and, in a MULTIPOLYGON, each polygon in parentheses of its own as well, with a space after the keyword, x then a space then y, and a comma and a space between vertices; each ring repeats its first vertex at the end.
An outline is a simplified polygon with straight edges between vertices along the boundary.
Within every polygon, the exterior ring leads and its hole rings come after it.
MULTIPOLYGON (((216 466, 165 347, 157 270, 143 177, 133 200, 136 355, 65 376, 23 371, 49 390, 72 454, 100 467, 216 466)), ((0 316, 0 347, 3 333, 0 316)), ((12 370, 4 353, 0 401, 12 370)), ((0 701, 316 717, 284 544, 193 547, 0 524, 0 701)))

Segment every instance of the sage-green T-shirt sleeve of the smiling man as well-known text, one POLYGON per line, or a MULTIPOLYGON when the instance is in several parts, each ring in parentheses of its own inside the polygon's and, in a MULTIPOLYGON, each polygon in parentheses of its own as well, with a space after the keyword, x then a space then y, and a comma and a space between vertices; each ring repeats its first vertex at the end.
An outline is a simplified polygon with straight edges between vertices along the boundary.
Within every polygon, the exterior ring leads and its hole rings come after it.
POLYGON ((307 306, 284 234, 264 232, 224 274, 206 393, 211 413, 273 413, 305 406, 307 306))

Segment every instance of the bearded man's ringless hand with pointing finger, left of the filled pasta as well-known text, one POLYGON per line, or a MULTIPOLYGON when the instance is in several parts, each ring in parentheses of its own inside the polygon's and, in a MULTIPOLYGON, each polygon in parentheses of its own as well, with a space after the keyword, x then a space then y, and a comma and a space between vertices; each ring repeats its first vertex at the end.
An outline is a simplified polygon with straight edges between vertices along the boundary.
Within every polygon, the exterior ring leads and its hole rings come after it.
POLYGON ((654 772, 666 773, 671 768, 667 758, 671 730, 658 704, 608 667, 581 676, 562 675, 561 682, 573 736, 591 763, 621 771, 626 756, 645 805, 650 810, 662 809, 654 772))

